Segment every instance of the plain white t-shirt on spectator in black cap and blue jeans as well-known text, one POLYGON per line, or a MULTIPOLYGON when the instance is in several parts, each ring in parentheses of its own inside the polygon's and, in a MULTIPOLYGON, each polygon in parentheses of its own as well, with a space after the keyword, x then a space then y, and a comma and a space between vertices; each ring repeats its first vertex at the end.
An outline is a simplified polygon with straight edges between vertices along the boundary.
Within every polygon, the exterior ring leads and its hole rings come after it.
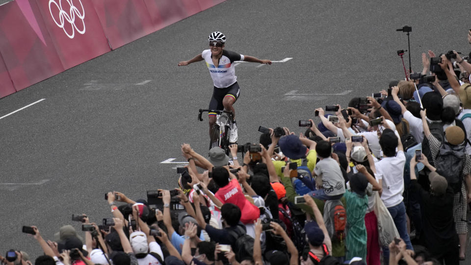
POLYGON ((383 200, 386 208, 398 205, 404 199, 402 192, 404 191, 404 165, 406 164, 406 156, 403 151, 397 152, 395 157, 383 158, 377 163, 376 175, 378 182, 382 180, 383 200))

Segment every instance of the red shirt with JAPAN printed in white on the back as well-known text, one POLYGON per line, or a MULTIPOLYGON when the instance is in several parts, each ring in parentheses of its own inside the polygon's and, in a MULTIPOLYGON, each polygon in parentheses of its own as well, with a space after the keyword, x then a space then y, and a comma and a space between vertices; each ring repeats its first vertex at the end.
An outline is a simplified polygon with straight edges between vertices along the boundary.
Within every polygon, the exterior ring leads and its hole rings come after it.
POLYGON ((241 216, 240 221, 243 224, 251 224, 260 217, 260 210, 257 206, 251 204, 244 196, 242 189, 236 179, 229 182, 214 194, 223 204, 232 203, 239 207, 241 216))

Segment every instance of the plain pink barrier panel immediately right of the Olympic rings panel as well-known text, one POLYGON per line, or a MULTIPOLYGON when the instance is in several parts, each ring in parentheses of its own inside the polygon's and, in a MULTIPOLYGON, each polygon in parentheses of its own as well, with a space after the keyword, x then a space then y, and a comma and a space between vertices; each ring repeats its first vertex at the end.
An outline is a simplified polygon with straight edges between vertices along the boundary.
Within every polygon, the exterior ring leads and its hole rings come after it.
POLYGON ((143 0, 94 0, 93 5, 113 50, 155 31, 143 0))

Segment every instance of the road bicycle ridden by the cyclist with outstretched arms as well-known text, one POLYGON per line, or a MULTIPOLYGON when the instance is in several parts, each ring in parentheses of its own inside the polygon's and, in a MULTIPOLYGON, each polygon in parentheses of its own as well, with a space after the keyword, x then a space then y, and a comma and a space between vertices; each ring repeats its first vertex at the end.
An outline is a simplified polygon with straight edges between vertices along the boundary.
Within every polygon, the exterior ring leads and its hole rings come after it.
POLYGON ((201 115, 203 112, 213 112, 216 113, 216 122, 211 128, 211 135, 209 139, 209 149, 219 146, 222 148, 226 154, 229 154, 229 134, 231 131, 231 121, 233 118, 232 111, 227 110, 214 110, 214 109, 201 109, 199 110, 198 120, 203 121, 201 115))

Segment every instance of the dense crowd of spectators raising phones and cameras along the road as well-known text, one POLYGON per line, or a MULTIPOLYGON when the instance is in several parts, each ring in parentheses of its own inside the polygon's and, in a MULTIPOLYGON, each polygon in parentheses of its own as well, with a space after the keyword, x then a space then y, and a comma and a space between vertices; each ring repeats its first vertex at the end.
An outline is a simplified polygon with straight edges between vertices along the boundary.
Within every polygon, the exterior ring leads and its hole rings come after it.
MULTIPOLYGON (((214 147, 208 157, 183 144, 179 188, 136 200, 108 192, 112 218, 74 216, 84 238, 72 225, 54 241, 25 227, 44 252, 34 264, 459 264, 471 200, 471 64, 455 51, 428 51, 422 64, 379 95, 316 108, 320 122, 300 121, 299 135, 268 129, 259 143, 214 147)), ((0 260, 33 261, 17 250, 0 260)))

